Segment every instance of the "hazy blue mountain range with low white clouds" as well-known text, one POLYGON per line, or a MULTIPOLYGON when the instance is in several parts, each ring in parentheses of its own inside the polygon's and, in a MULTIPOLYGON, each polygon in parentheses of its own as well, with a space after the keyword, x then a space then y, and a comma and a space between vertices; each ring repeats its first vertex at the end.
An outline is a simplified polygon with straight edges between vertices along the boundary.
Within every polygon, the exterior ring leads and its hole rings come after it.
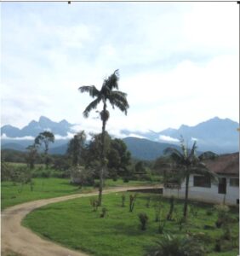
MULTIPOLYGON (((75 124, 70 124, 66 119, 54 122, 44 116, 41 116, 38 121, 32 120, 22 129, 4 125, 1 128, 2 148, 24 151, 39 132, 48 130, 52 131, 56 137, 49 152, 65 154, 70 137, 76 133, 74 126, 75 124)), ((237 152, 239 151, 238 127, 239 124, 231 119, 215 117, 194 126, 181 125, 179 129, 168 128, 159 132, 122 130, 121 134, 134 158, 154 160, 163 154, 164 148, 178 148, 180 137, 183 137, 190 146, 194 140, 197 140, 199 151, 210 150, 217 154, 237 152)))

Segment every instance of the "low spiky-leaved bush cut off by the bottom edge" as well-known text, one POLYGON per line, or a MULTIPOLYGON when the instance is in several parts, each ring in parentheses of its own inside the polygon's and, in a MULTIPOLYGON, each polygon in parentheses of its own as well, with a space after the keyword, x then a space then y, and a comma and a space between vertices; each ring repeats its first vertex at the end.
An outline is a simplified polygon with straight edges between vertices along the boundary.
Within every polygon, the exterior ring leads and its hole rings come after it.
POLYGON ((204 247, 190 236, 164 234, 157 246, 152 247, 148 256, 203 256, 204 247))

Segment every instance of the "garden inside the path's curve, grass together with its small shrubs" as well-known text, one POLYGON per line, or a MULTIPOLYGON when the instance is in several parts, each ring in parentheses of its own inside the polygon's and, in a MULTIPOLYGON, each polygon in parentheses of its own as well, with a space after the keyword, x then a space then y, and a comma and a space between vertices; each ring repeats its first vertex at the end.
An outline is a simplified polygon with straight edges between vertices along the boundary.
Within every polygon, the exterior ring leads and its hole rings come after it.
POLYGON ((50 240, 93 255, 237 255, 236 208, 191 202, 187 220, 183 208, 184 201, 161 195, 117 193, 105 195, 101 207, 92 197, 90 204, 81 198, 39 208, 24 224, 50 240), (219 228, 216 222, 222 211, 227 218, 219 228))

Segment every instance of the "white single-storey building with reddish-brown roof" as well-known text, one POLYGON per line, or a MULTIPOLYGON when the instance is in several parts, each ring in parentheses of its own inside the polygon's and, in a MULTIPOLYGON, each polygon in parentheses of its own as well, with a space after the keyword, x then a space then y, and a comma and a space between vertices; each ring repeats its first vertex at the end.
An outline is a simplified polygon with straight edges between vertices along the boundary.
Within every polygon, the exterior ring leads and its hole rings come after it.
MULTIPOLYGON (((189 180, 190 200, 228 205, 239 204, 239 153, 222 154, 214 160, 205 160, 204 163, 212 172, 219 176, 219 183, 212 183, 210 178, 200 175, 191 175, 189 180)), ((164 196, 174 195, 176 198, 185 198, 185 182, 178 187, 167 184, 163 189, 164 196)))

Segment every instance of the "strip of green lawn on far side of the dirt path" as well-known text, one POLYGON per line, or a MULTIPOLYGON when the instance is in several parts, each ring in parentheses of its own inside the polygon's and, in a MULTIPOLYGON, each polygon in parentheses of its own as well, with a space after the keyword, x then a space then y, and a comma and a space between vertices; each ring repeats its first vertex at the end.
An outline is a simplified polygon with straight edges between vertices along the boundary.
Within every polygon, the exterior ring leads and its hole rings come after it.
MULTIPOLYGON (((2 182, 1 209, 3 210, 6 207, 12 207, 26 201, 47 199, 61 195, 87 193, 93 189, 97 189, 93 187, 84 187, 83 189, 79 189, 77 185, 72 185, 70 183, 69 178, 36 177, 32 178, 32 180, 34 183, 32 191, 30 184, 25 184, 23 187, 21 187, 20 183, 14 184, 13 182, 2 182)), ((149 184, 149 182, 144 181, 129 181, 129 183, 123 183, 122 179, 118 179, 116 182, 112 181, 111 179, 106 180, 106 188, 149 184)))

